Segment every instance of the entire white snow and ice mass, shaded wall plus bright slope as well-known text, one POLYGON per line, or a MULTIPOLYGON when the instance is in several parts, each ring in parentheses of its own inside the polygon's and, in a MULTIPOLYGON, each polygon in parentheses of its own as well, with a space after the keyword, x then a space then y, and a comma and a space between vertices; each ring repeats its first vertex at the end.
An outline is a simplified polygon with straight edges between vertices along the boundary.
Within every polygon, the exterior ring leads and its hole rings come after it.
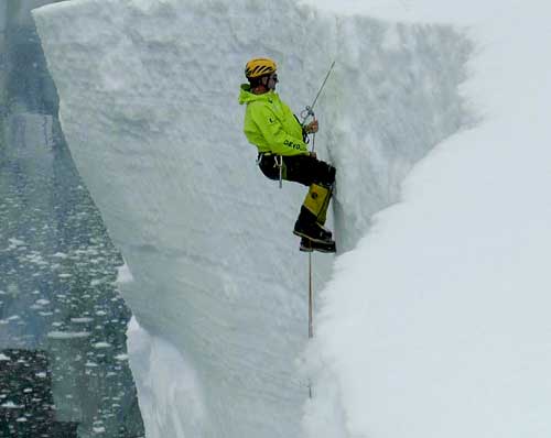
MULTIPOLYGON (((305 2, 34 14, 65 136, 127 262, 148 437, 549 437, 551 7, 305 2), (256 55, 279 61, 296 111, 337 61, 316 147, 338 168, 347 252, 310 344, 290 236, 304 189, 267 182, 241 133, 256 55)), ((332 261, 314 260, 317 291, 332 261)))

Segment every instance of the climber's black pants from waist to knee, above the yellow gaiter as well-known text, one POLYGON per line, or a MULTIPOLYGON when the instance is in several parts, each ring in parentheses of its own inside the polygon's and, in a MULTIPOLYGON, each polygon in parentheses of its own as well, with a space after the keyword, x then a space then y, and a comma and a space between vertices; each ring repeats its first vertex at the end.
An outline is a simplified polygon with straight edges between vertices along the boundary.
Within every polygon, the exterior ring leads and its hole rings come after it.
MULTIPOLYGON (((280 155, 259 156, 260 169, 270 179, 279 179, 278 162, 280 155), (277 160, 277 161, 276 161, 277 160)), ((325 187, 335 183, 336 168, 310 155, 283 156, 282 177, 285 180, 300 183, 305 186, 318 184, 325 187)))

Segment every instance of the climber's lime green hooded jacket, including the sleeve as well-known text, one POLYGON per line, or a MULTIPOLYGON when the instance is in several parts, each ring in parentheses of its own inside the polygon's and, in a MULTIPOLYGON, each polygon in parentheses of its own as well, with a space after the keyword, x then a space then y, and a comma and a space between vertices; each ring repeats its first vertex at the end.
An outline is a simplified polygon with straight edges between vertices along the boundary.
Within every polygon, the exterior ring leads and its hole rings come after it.
POLYGON ((309 149, 302 140, 302 127, 273 91, 263 95, 250 92, 248 84, 241 85, 239 103, 247 103, 245 111, 245 135, 259 152, 278 155, 307 155, 309 149))

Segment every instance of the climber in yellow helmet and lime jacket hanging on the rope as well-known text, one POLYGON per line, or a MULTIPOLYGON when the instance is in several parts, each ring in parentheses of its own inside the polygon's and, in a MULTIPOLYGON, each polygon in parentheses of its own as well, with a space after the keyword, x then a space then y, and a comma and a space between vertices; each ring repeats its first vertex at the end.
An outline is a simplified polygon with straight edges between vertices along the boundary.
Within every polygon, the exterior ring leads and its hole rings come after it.
POLYGON ((253 58, 245 68, 249 84, 242 84, 239 103, 247 105, 245 135, 258 147, 258 165, 270 179, 309 186, 294 225, 301 251, 335 252, 332 232, 324 228, 336 169, 310 152, 307 134, 318 130, 317 120, 302 125, 276 92, 277 66, 269 58, 253 58))

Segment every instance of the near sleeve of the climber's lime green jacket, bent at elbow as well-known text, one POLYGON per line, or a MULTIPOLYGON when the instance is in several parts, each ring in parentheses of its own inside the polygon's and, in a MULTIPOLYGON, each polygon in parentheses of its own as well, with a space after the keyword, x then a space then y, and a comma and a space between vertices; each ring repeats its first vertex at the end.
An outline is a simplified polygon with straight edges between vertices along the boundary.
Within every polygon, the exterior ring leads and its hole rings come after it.
POLYGON ((250 116, 274 154, 288 156, 309 154, 306 143, 302 139, 288 134, 268 106, 255 105, 250 116))

